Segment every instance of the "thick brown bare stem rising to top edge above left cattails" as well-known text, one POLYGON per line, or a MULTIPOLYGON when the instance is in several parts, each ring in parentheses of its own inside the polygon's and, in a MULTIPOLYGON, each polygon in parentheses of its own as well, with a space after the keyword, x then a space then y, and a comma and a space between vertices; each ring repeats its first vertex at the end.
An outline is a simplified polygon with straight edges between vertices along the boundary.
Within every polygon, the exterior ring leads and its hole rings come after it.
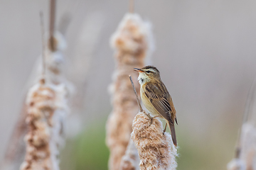
POLYGON ((50 50, 52 51, 55 51, 55 42, 54 42, 55 8, 56 8, 56 0, 50 0, 49 47, 50 47, 50 50))

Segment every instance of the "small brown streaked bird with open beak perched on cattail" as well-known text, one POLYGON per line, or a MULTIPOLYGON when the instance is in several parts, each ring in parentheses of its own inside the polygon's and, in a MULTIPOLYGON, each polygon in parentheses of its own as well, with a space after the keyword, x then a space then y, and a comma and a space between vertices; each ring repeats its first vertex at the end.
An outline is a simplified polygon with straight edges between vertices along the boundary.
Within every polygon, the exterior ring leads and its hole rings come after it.
MULTIPOLYGON (((134 71, 139 72, 139 84, 141 85, 140 94, 142 103, 152 115, 161 117, 166 120, 171 130, 171 138, 174 145, 177 146, 176 133, 174 128, 174 120, 176 119, 176 110, 171 95, 164 86, 160 78, 160 72, 156 67, 146 66, 142 69, 134 68, 134 71)), ((178 123, 177 123, 178 125, 178 123)), ((166 131, 166 126, 164 132, 166 131)))

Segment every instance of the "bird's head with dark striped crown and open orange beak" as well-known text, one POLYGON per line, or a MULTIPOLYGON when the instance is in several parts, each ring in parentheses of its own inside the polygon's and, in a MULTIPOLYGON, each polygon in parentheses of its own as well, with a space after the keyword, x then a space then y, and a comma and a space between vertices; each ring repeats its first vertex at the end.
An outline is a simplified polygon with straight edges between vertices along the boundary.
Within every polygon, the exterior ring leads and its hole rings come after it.
POLYGON ((146 82, 160 79, 160 72, 154 66, 146 66, 142 69, 134 68, 134 71, 139 72, 139 84, 145 84, 146 82))

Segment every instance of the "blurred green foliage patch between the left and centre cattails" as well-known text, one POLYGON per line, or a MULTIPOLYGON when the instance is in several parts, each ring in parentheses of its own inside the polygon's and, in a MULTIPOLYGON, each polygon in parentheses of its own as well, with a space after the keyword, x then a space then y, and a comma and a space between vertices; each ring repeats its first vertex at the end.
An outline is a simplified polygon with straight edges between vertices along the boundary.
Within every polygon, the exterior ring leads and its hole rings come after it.
POLYGON ((107 170, 109 149, 105 144, 107 118, 92 123, 75 138, 68 141, 61 154, 60 169, 107 170))

